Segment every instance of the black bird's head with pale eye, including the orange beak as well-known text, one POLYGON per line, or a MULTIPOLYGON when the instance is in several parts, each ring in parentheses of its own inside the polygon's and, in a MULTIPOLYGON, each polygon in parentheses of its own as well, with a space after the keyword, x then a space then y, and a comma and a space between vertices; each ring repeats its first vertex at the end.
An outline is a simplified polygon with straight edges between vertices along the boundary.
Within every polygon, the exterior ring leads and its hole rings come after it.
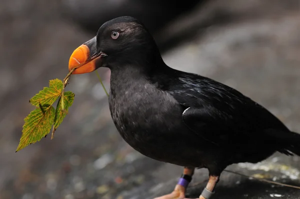
POLYGON ((101 25, 96 35, 77 47, 69 59, 69 71, 80 74, 98 67, 122 66, 124 64, 153 63, 162 60, 156 43, 137 19, 121 16, 101 25))

